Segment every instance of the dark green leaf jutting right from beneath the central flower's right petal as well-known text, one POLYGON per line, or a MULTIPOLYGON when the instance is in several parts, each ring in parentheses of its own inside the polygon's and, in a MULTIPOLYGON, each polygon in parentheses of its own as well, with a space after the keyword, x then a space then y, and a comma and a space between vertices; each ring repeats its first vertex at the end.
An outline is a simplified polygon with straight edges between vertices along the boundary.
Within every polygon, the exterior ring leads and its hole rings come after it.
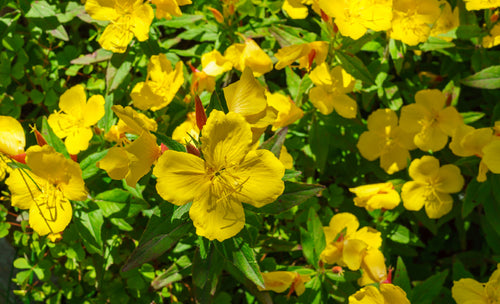
POLYGON ((318 195, 324 188, 322 185, 285 181, 285 190, 275 202, 261 208, 252 206, 245 206, 245 208, 256 213, 280 214, 318 195))

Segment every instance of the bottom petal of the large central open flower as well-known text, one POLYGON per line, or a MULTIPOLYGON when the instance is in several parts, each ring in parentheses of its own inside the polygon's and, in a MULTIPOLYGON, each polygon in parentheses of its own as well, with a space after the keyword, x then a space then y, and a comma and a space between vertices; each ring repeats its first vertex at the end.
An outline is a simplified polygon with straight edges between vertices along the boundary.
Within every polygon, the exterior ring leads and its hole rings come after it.
POLYGON ((245 226, 241 203, 231 197, 218 197, 210 183, 198 189, 198 195, 189 209, 196 234, 219 242, 238 234, 245 226))

